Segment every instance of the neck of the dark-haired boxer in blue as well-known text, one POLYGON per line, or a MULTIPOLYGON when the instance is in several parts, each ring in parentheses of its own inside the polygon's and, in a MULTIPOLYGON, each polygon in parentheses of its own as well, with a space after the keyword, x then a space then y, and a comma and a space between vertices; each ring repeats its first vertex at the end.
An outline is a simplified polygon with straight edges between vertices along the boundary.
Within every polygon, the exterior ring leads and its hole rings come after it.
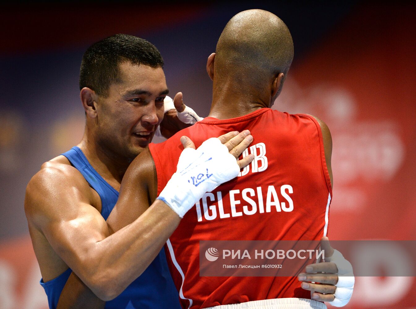
MULTIPOLYGON (((112 182, 111 180, 115 180, 116 182, 121 183, 131 160, 118 156, 116 153, 100 146, 96 138, 87 132, 87 129, 84 132, 81 142, 77 146, 82 150, 87 157, 88 162, 97 173, 107 180, 107 182, 110 183, 112 182)), ((110 184, 113 185, 112 183, 110 184)), ((113 187, 114 186, 115 185, 113 185, 113 187)))

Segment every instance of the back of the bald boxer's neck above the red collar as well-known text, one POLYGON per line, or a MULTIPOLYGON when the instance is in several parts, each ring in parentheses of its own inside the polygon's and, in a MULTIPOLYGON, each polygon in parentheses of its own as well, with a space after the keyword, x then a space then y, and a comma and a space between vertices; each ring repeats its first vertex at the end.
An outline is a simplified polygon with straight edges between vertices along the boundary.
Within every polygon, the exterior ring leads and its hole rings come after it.
POLYGON ((235 80, 235 77, 213 81, 213 100, 209 117, 230 119, 271 106, 272 84, 264 87, 235 80), (269 89, 270 88, 270 89, 269 89))

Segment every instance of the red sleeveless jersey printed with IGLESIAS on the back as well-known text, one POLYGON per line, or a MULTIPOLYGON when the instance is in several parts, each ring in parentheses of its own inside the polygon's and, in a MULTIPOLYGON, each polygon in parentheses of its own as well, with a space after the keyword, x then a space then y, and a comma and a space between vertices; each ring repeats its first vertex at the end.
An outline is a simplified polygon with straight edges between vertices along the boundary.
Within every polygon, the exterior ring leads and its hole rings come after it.
POLYGON ((320 240, 327 234, 332 188, 322 133, 312 116, 263 108, 233 119, 207 117, 163 143, 150 144, 158 195, 176 172, 174 162, 183 150, 181 136, 199 147, 210 137, 245 129, 254 138, 245 150, 245 155, 255 154, 253 162, 239 177, 206 193, 166 244, 183 308, 272 298, 310 299, 297 277, 200 277, 199 241, 320 240), (277 210, 276 203, 267 205, 270 196, 278 198, 277 207, 285 211, 277 210))

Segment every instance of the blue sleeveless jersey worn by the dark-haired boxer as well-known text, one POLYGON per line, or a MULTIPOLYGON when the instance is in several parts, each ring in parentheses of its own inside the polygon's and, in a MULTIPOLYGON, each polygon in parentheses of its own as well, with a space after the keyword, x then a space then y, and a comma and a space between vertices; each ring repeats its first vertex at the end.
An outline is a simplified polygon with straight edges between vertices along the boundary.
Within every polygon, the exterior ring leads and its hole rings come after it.
MULTIPOLYGON (((67 157, 72 166, 84 176, 91 187, 97 191, 101 198, 101 215, 107 220, 111 210, 114 208, 119 193, 97 171, 92 168, 87 158, 78 147, 62 153, 67 157)), ((58 277, 40 284, 45 289, 48 297, 50 309, 55 309, 58 304, 59 296, 67 282, 72 270, 67 269, 58 277)), ((179 305, 178 291, 166 263, 165 251, 156 256, 153 262, 134 280, 118 297, 106 302, 106 309, 136 309, 136 308, 181 308, 179 305)))

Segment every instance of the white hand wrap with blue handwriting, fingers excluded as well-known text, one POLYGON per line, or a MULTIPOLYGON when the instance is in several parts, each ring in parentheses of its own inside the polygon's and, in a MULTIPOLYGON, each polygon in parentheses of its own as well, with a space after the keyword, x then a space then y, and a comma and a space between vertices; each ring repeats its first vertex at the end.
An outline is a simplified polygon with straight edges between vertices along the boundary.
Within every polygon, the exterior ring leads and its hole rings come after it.
POLYGON ((220 184, 240 173, 235 157, 218 138, 209 138, 198 149, 186 148, 179 157, 176 173, 158 196, 179 217, 220 184))

